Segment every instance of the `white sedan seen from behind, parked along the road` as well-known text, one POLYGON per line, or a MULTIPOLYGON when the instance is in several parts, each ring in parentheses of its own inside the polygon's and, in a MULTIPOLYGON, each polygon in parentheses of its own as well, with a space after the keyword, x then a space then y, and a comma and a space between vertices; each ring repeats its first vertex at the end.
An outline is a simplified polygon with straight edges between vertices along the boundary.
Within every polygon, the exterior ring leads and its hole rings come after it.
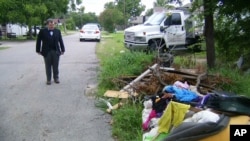
POLYGON ((101 30, 96 24, 85 24, 80 30, 80 42, 84 40, 101 40, 101 30))

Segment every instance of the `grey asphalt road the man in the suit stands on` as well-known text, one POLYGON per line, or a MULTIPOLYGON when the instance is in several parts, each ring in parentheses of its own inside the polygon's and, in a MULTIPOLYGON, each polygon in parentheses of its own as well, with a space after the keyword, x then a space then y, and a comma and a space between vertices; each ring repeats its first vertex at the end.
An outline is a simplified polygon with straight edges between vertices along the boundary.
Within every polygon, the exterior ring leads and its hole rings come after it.
POLYGON ((95 107, 85 89, 97 83, 95 42, 64 36, 60 84, 46 85, 35 41, 2 42, 0 141, 113 141, 110 115, 95 107))

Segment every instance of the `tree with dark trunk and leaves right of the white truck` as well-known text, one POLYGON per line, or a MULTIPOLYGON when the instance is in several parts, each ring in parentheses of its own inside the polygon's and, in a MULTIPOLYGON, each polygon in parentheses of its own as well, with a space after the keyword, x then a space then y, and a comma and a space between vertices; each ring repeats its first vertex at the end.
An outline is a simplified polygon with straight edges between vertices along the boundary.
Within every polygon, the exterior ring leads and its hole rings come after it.
POLYGON ((218 58, 224 62, 237 60, 241 55, 246 56, 244 62, 249 62, 250 2, 195 0, 195 3, 204 6, 208 67, 215 66, 215 50, 218 58))

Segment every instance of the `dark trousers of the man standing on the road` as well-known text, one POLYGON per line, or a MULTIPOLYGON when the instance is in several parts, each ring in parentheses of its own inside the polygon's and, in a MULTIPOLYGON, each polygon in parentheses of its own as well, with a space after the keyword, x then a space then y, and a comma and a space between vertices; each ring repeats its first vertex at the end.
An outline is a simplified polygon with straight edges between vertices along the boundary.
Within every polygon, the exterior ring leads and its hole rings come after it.
POLYGON ((51 70, 53 70, 53 78, 59 78, 59 57, 55 50, 49 51, 44 57, 47 81, 51 81, 51 70))

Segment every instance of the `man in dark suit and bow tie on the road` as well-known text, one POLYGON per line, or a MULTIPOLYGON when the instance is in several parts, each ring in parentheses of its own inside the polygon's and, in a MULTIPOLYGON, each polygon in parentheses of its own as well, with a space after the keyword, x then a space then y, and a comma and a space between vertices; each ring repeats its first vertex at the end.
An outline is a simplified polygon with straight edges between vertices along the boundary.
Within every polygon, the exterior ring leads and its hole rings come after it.
POLYGON ((47 85, 51 84, 52 70, 55 83, 59 81, 59 59, 65 52, 61 31, 54 27, 52 19, 47 20, 47 27, 41 29, 37 41, 36 52, 44 57, 47 85))

